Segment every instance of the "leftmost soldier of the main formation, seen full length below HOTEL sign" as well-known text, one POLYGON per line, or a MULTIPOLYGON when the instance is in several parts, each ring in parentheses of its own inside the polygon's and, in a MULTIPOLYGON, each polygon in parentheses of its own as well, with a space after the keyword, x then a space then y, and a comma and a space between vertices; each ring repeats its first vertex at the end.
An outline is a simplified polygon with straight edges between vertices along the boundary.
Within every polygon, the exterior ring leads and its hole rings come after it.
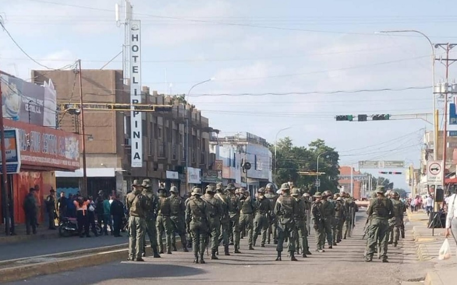
POLYGON ((129 211, 128 218, 128 258, 131 261, 144 261, 141 258, 144 235, 144 207, 145 199, 141 194, 141 184, 133 180, 132 191, 127 194, 126 204, 129 211))

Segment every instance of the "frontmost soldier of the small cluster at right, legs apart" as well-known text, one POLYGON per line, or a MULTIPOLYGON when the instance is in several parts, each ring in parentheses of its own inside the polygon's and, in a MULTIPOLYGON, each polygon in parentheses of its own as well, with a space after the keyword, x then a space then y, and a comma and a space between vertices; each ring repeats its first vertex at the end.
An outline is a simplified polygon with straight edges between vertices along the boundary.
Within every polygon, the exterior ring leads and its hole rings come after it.
POLYGON ((373 260, 378 240, 380 242, 380 253, 383 262, 387 260, 387 242, 389 238, 389 219, 394 216, 392 200, 384 195, 384 186, 376 188, 377 197, 370 201, 367 214, 371 218, 367 247, 365 249, 365 261, 373 260))

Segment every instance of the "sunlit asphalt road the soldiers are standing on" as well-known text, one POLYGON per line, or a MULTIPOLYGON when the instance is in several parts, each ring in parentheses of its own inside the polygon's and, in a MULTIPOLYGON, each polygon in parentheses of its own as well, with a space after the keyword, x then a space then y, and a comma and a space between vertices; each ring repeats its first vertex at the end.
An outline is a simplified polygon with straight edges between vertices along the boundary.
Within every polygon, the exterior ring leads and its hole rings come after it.
MULTIPOLYGON (((314 238, 310 238, 313 254, 299 261, 274 261, 274 245, 247 250, 242 239, 241 254, 206 258, 206 264, 193 264, 193 254, 173 252, 162 258, 146 257, 146 262, 115 262, 52 275, 38 276, 8 284, 62 284, 75 280, 78 285, 109 284, 400 284, 403 280, 425 276, 428 263, 416 261, 411 230, 399 247, 389 248, 390 263, 379 259, 363 261, 366 240, 362 240, 364 213, 359 214, 355 234, 334 249, 314 252, 314 238), (76 281, 77 280, 77 281, 76 281)), ((408 225, 407 225, 408 229, 408 225)), ((283 253, 287 255, 287 253, 283 253)), ((284 256, 283 260, 287 260, 284 256)))

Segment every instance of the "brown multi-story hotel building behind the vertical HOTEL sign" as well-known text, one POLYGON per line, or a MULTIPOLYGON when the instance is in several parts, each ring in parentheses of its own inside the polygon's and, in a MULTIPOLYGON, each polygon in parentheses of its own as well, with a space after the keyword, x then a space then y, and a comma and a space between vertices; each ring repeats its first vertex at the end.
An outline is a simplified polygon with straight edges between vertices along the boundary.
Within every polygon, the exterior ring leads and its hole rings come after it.
MULTIPOLYGON (((123 84, 121 70, 82 70, 84 103, 129 103, 130 89, 123 84)), ((79 103, 77 71, 34 70, 37 82, 52 79, 57 90, 57 103, 79 103)), ((143 104, 173 105, 167 111, 142 112, 142 167, 131 167, 130 111, 84 110, 86 134, 86 172, 88 193, 98 190, 126 193, 132 179, 150 178, 154 189, 160 183, 176 185, 185 192, 189 184, 201 183, 201 169, 209 165, 208 118, 194 106, 181 103, 177 97, 159 95, 143 87, 143 104), (188 114, 187 112, 190 112, 188 114), (186 117, 189 119, 189 167, 185 176, 186 117)), ((59 114, 59 128, 79 133, 76 115, 59 114)), ((82 165, 82 164, 81 164, 82 165)), ((56 172, 57 186, 67 192, 77 191, 83 169, 56 172)))

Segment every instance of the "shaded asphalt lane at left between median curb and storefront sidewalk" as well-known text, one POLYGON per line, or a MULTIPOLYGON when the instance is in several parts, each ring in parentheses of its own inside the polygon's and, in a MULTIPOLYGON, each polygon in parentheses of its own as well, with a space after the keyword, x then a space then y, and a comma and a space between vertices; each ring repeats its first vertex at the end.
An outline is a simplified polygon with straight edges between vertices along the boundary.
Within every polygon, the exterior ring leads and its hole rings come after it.
POLYGON ((0 244, 0 260, 16 259, 22 257, 127 243, 127 234, 122 234, 122 237, 114 237, 112 235, 102 235, 95 237, 92 234, 91 237, 83 238, 78 236, 71 236, 27 240, 25 242, 19 243, 4 243, 0 244))

